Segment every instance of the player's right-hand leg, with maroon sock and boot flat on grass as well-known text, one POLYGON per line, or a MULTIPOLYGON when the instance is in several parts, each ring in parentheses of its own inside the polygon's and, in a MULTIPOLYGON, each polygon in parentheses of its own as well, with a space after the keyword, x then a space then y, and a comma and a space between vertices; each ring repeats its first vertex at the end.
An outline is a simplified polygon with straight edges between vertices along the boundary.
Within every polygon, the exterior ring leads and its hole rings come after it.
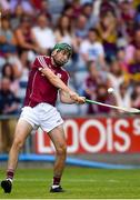
POLYGON ((62 192, 62 188, 60 187, 60 180, 62 177, 62 172, 64 169, 64 162, 67 157, 67 142, 64 137, 64 131, 62 124, 52 129, 49 132, 49 137, 54 144, 56 148, 56 162, 53 167, 53 183, 51 187, 51 192, 62 192))

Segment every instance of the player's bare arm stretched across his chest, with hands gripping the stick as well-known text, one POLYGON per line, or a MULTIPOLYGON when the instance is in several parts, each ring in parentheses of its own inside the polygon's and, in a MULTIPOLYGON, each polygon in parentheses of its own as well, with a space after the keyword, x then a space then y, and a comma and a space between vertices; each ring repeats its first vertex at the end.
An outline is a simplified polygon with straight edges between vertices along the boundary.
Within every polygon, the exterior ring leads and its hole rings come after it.
MULTIPOLYGON (((57 88, 61 90, 62 102, 66 103, 84 103, 84 98, 72 91, 58 76, 56 76, 49 68, 39 68, 39 70, 48 78, 48 80, 57 88), (69 100, 68 100, 69 99, 69 100)), ((60 97, 61 98, 61 97, 60 97)))

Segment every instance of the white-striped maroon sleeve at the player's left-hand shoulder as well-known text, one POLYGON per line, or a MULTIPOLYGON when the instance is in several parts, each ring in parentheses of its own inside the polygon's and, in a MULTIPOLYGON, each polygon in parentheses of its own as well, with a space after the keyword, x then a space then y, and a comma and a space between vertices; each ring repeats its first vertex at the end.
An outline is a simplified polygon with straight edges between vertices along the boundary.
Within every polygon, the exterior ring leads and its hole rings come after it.
POLYGON ((39 69, 39 68, 44 68, 44 67, 47 67, 47 62, 44 60, 44 57, 43 56, 36 57, 36 59, 32 63, 32 68, 39 69))

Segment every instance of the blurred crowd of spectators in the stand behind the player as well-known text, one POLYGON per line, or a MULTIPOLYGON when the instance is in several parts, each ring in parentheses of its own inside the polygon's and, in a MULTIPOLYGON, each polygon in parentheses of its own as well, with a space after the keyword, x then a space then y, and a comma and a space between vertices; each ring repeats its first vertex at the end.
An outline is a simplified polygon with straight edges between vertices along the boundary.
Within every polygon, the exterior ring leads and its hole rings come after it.
MULTIPOLYGON (((57 42, 73 48, 67 70, 74 90, 140 109, 139 0, 0 0, 0 114, 19 113, 32 61, 57 42)), ((58 101, 58 108, 63 114, 114 113, 96 104, 58 101)))

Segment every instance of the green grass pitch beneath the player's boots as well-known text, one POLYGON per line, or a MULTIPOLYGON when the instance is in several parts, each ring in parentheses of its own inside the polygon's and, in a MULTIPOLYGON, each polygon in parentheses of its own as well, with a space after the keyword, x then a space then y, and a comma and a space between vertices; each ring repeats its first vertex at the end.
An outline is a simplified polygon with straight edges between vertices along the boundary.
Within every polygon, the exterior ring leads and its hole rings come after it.
MULTIPOLYGON (((0 169, 0 180, 4 170, 0 169)), ((12 193, 0 199, 140 199, 140 170, 67 167, 63 193, 50 193, 52 169, 18 169, 12 193)))

